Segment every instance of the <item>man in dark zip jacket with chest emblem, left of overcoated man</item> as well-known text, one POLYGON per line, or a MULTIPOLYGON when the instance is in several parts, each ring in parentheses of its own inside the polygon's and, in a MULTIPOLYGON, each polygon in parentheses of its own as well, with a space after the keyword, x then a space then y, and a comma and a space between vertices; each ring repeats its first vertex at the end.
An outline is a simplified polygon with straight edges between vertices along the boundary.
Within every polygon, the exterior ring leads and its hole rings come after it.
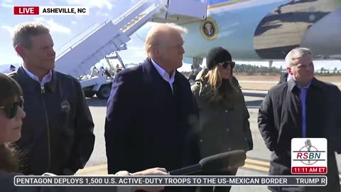
POLYGON ((23 174, 75 174, 94 148, 94 124, 80 82, 58 73, 48 28, 19 25, 13 47, 23 64, 11 73, 23 89, 26 118, 17 142, 23 174))

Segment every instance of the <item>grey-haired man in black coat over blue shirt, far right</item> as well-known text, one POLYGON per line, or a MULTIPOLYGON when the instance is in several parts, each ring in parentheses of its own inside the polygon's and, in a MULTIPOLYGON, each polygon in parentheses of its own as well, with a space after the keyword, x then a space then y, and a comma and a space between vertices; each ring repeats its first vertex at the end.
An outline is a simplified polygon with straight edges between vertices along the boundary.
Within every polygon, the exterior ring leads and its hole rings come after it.
POLYGON ((340 191, 335 151, 340 152, 340 90, 313 77, 313 56, 296 48, 286 56, 293 76, 269 90, 259 108, 259 130, 272 151, 270 175, 291 175, 291 139, 328 139, 328 185, 278 187, 271 191, 340 191))

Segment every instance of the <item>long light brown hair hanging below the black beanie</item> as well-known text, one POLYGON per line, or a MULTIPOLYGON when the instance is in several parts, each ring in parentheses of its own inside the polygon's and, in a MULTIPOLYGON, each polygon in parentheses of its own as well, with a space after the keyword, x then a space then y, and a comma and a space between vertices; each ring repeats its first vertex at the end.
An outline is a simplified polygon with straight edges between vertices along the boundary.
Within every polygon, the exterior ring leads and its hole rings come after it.
POLYGON ((232 82, 232 74, 233 70, 231 69, 229 80, 222 80, 222 75, 220 75, 217 65, 207 72, 205 78, 208 85, 210 85, 209 102, 211 104, 233 102, 237 98, 238 90, 234 82, 232 82))

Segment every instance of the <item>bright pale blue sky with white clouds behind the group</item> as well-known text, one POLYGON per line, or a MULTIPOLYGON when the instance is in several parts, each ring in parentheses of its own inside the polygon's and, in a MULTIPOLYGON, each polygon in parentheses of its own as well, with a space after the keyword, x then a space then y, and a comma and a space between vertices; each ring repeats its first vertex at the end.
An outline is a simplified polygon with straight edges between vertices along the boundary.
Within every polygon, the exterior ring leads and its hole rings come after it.
MULTIPOLYGON (((54 48, 58 50, 94 23, 103 23, 109 18, 116 18, 136 1, 139 0, 0 0, 0 69, 12 63, 20 64, 22 62, 11 46, 11 31, 18 23, 36 21, 48 26, 55 43, 54 48), (88 6, 90 14, 88 16, 20 16, 13 14, 13 6, 88 6)), ((144 28, 151 25, 152 23, 147 23, 144 28)), ((137 36, 131 36, 127 47, 128 50, 122 50, 119 53, 124 63, 140 63, 146 58, 144 42, 137 36)), ((267 62, 242 61, 239 63, 268 65, 267 62)), ((285 67, 283 62, 274 62, 273 65, 285 67)), ((315 65, 317 65, 315 68, 325 67, 331 70, 335 66, 341 68, 340 61, 330 61, 327 66, 325 63, 319 62, 315 65)), ((183 65, 180 70, 190 70, 190 65, 183 65)))

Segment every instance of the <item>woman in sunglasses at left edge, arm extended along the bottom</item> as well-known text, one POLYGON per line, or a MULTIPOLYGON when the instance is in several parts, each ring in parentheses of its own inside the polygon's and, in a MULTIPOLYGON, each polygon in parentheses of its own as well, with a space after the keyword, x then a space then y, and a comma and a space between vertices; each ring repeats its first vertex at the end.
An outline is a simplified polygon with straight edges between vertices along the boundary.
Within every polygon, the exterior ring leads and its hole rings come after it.
MULTIPOLYGON (((0 73, 0 191, 6 192, 43 192, 43 191, 94 191, 89 187, 48 187, 39 186, 31 187, 16 187, 13 184, 13 177, 16 175, 23 175, 20 173, 21 155, 25 151, 16 151, 14 142, 21 138, 21 127, 26 113, 23 110, 23 92, 20 85, 9 78, 7 75, 0 73)), ((45 173, 45 175, 53 175, 45 173)), ((129 174, 127 171, 119 171, 117 176, 155 176, 155 175, 169 175, 166 169, 153 168, 139 171, 134 174, 129 174)), ((162 186, 140 186, 140 187, 100 187, 99 191, 161 191, 162 186)))

